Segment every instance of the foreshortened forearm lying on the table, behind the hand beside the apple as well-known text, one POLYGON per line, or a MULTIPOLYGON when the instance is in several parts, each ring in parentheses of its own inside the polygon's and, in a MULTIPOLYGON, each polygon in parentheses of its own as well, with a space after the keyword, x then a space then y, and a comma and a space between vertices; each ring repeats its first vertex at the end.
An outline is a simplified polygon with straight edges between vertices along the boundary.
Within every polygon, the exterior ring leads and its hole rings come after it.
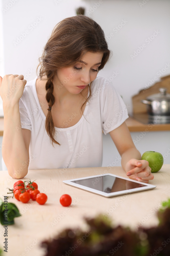
POLYGON ((133 158, 141 160, 141 154, 136 147, 130 147, 122 154, 121 165, 125 172, 127 172, 126 163, 133 158))

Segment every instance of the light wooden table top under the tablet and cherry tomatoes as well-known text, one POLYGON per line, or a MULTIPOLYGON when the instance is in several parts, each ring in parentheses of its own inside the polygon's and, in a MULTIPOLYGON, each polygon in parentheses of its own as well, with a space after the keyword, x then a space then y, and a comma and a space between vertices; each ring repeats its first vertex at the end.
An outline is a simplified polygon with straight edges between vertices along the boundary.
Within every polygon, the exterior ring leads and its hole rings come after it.
MULTIPOLYGON (((83 216, 95 217, 99 213, 110 216, 118 225, 136 229, 138 225, 149 227, 158 224, 156 210, 161 201, 170 196, 170 164, 163 165, 150 184, 156 188, 133 194, 106 198, 88 191, 66 185, 62 180, 86 177, 97 174, 112 173, 127 177, 122 167, 93 167, 68 168, 49 170, 29 170, 22 180, 36 179, 38 189, 46 193, 48 200, 45 205, 39 205, 30 200, 23 204, 15 198, 14 202, 21 213, 15 218, 15 224, 8 226, 8 256, 43 256, 44 250, 40 247, 41 241, 53 238, 66 227, 81 227, 88 230, 83 216), (59 199, 61 195, 69 194, 72 205, 63 207, 59 199)), ((11 178, 7 171, 0 171, 0 197, 7 196, 7 187, 12 188, 16 179, 11 178)), ((4 227, 0 224, 0 247, 3 248, 4 227)))

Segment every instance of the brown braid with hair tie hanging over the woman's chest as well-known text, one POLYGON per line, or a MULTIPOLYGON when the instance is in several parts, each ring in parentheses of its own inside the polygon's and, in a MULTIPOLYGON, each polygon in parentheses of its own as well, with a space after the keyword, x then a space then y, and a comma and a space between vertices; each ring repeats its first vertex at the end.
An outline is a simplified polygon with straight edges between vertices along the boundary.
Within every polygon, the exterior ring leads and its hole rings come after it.
POLYGON ((45 98, 46 98, 46 100, 48 102, 48 106, 49 106, 49 108, 48 108, 49 111, 47 113, 47 117, 45 120, 45 129, 47 131, 48 136, 50 137, 52 144, 54 142, 54 143, 60 145, 60 143, 58 143, 54 138, 55 128, 54 128, 53 117, 51 114, 51 108, 52 108, 53 104, 55 103, 55 97, 53 95, 54 85, 53 85, 52 79, 47 80, 45 89, 47 91, 45 98))

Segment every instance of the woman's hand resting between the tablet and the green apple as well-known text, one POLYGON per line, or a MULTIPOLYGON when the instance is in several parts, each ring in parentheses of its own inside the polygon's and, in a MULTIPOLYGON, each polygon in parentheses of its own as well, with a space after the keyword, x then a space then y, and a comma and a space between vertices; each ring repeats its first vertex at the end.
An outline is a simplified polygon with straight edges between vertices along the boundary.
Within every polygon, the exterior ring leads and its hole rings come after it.
POLYGON ((151 173, 149 162, 146 160, 130 159, 126 164, 126 175, 130 179, 148 183, 154 176, 151 173))

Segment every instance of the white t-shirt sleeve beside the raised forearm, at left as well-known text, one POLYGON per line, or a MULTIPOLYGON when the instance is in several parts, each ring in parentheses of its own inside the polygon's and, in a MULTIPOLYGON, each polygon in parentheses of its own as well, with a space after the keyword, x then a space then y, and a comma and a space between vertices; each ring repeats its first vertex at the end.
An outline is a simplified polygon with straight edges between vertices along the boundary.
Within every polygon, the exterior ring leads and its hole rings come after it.
POLYGON ((23 103, 22 97, 19 100, 19 112, 20 112, 20 119, 21 119, 21 128, 28 129, 31 131, 31 121, 29 119, 28 112, 23 103))

